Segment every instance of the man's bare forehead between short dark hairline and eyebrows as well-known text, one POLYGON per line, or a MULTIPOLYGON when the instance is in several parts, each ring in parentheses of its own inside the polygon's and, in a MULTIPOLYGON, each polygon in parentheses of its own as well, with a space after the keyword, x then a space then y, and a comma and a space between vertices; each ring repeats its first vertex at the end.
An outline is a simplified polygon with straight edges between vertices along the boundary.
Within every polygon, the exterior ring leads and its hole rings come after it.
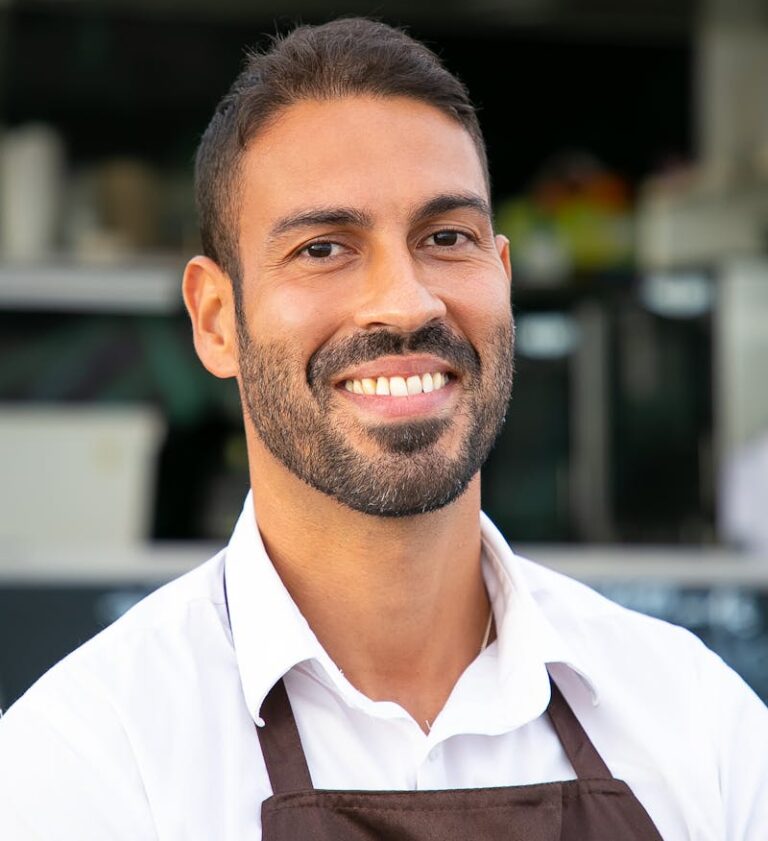
POLYGON ((469 132, 405 97, 291 105, 248 145, 241 174, 241 240, 306 208, 357 207, 376 218, 445 193, 487 198, 469 132))

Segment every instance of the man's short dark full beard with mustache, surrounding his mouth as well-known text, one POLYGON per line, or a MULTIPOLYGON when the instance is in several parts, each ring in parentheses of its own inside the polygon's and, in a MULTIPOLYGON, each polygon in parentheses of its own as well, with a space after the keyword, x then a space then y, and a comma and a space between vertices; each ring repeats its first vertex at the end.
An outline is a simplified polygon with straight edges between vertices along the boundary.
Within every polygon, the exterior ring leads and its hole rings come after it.
POLYGON ((259 438, 295 476, 355 511, 406 517, 443 508, 466 490, 504 425, 513 379, 511 317, 482 356, 438 323, 405 335, 381 329, 324 345, 306 370, 288 343, 254 342, 242 316, 237 329, 241 398, 259 438), (458 414, 381 424, 335 418, 338 373, 417 352, 451 365, 462 390, 458 414), (457 452, 449 455, 441 440, 462 421, 457 452), (375 454, 357 449, 353 435, 373 443, 375 454))

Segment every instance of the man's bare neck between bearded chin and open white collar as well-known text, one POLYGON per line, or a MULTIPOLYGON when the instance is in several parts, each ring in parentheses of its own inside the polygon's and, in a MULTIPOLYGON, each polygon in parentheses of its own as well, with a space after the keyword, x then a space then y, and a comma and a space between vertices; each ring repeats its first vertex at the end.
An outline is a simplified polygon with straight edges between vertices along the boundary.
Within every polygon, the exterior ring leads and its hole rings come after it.
POLYGON ((375 517, 274 462, 265 470, 271 456, 260 455, 251 482, 259 529, 291 597, 354 686, 428 730, 487 627, 479 478, 439 511, 375 517))

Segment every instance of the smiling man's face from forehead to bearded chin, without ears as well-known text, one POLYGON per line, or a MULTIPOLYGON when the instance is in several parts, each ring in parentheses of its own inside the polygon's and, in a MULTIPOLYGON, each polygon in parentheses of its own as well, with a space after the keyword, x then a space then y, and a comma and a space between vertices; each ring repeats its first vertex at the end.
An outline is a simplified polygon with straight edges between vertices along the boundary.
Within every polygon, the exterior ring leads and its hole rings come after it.
POLYGON ((506 241, 478 154, 406 98, 285 109, 243 162, 239 383, 261 442, 358 511, 467 487, 512 384, 506 241))

